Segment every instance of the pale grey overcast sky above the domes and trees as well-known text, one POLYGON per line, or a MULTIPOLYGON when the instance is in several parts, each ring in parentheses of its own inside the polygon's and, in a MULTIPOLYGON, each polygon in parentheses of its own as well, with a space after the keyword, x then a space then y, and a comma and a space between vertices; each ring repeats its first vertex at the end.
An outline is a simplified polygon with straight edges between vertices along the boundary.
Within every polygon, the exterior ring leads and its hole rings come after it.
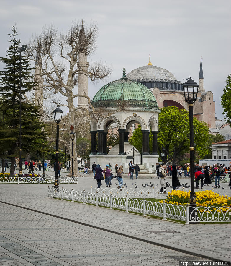
MULTIPOLYGON (((222 119, 220 97, 231 73, 231 1, 89 1, 1 0, 0 56, 6 55, 8 36, 17 23, 22 43, 53 23, 65 31, 74 20, 96 22, 97 50, 89 58, 101 59, 113 68, 108 81, 122 77, 148 63, 170 71, 177 80, 192 75, 198 83, 202 56, 204 88, 216 101, 216 116, 222 119)), ((0 63, 0 69, 3 64, 0 63)), ((89 96, 106 82, 89 84, 89 96)), ((91 97, 92 98, 92 97, 91 97)))

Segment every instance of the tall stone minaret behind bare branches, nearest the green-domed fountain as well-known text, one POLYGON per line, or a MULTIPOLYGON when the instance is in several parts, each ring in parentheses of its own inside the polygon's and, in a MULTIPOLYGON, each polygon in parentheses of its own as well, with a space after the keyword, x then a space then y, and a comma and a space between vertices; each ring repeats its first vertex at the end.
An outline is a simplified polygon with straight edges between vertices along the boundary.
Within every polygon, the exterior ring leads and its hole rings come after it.
MULTIPOLYGON (((83 48, 80 48, 80 53, 78 54, 78 94, 83 94, 88 96, 88 76, 86 73, 81 70, 88 70, 89 63, 87 62, 87 56, 84 53, 84 43, 85 43, 85 32, 84 32, 84 27, 83 27, 83 22, 82 22, 82 28, 80 32, 80 38, 79 38, 79 44, 83 46, 83 48), (81 51, 83 51, 81 53, 81 51)), ((88 109, 88 99, 84 97, 78 97, 78 106, 83 107, 88 109)))

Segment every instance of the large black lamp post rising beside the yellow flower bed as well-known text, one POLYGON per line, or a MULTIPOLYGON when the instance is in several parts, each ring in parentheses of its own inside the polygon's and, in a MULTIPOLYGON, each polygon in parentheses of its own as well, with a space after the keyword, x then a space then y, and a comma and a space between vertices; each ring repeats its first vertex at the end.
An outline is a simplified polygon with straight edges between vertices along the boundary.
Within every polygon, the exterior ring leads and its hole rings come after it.
POLYGON ((190 207, 196 207, 196 193, 194 189, 194 139, 193 139, 193 104, 197 100, 197 93, 199 85, 191 79, 187 80, 182 86, 184 90, 184 98, 189 104, 189 142, 190 142, 190 198, 189 198, 189 222, 196 223, 196 211, 190 207), (194 222, 193 222, 194 220, 194 222))

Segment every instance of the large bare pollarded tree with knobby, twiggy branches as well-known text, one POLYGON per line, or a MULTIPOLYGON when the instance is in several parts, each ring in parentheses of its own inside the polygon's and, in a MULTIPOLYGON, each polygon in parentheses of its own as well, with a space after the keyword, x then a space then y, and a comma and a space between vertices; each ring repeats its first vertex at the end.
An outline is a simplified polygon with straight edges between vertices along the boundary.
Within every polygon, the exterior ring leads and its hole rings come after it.
MULTIPOLYGON (((104 79, 112 72, 112 69, 102 62, 94 62, 88 69, 78 68, 79 55, 81 53, 90 55, 96 50, 98 34, 96 24, 84 25, 84 34, 82 27, 81 22, 73 22, 66 33, 58 33, 53 25, 46 27, 29 42, 27 50, 27 56, 39 67, 40 72, 37 75, 44 78, 44 88, 66 98, 67 104, 60 104, 60 106, 69 108, 69 132, 70 126, 75 126, 76 110, 85 111, 86 117, 89 118, 87 108, 78 108, 74 105, 73 101, 76 97, 86 98, 92 108, 92 114, 95 113, 88 95, 76 93, 78 72, 81 71, 92 81, 104 79)), ((69 141, 68 150, 71 150, 71 141, 69 141)), ((78 175, 76 139, 74 140, 74 171, 78 175)))

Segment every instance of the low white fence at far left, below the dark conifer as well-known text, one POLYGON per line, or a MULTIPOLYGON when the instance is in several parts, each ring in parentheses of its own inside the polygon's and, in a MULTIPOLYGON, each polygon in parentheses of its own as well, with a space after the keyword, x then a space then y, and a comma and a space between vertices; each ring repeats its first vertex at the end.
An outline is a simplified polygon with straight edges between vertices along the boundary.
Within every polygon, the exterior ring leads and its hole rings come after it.
MULTIPOLYGON (((76 184, 78 177, 60 176, 58 177, 59 184, 76 184)), ((54 184, 55 176, 46 175, 42 177, 0 177, 0 183, 14 183, 14 184, 54 184)))

